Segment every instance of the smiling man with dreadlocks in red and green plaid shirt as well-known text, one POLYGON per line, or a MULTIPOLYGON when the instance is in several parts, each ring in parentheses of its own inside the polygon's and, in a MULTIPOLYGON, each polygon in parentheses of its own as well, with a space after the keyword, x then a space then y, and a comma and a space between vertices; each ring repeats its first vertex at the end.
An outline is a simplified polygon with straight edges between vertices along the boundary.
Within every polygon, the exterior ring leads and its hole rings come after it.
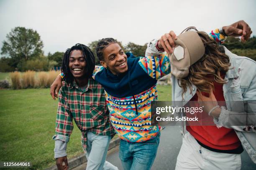
POLYGON ((73 119, 82 133, 86 170, 118 169, 105 161, 115 132, 110 124, 104 89, 90 76, 94 68, 95 57, 89 47, 76 44, 66 50, 61 67, 65 77, 59 93, 56 135, 53 137, 54 158, 60 170, 68 167, 66 148, 73 130, 73 119))

